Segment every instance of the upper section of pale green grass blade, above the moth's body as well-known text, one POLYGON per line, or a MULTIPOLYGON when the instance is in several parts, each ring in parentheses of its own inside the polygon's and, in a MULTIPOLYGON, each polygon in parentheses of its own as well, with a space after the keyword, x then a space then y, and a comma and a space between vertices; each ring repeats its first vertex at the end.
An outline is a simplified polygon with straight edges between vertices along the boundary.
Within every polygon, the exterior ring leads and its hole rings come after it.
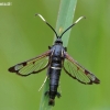
MULTIPOLYGON (((59 12, 56 23, 56 32, 58 33, 58 35, 62 34, 62 32, 73 23, 76 3, 77 0, 61 1, 59 12)), ((67 46, 69 36, 70 36, 70 30, 67 31, 62 37, 64 46, 67 46)))

